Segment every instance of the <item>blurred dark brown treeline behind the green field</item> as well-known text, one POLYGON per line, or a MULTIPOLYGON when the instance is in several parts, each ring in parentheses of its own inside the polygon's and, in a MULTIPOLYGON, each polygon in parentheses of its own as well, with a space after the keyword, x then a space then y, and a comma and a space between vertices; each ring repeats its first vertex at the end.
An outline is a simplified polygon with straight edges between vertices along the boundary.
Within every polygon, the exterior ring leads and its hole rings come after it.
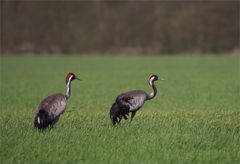
POLYGON ((238 0, 1 0, 1 52, 231 52, 239 8, 238 0))

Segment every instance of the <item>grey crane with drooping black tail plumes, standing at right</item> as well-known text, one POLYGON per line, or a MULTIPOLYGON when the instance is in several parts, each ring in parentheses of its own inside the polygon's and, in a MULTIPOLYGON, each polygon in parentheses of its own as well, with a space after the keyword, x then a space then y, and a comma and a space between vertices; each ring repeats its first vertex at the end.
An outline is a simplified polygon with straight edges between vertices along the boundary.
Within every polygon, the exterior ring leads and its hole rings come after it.
POLYGON ((122 119, 127 119, 127 116, 131 112, 131 121, 135 116, 136 112, 144 105, 145 101, 153 99, 157 94, 157 88, 155 86, 155 81, 164 80, 163 78, 158 78, 157 75, 151 75, 148 83, 152 87, 153 91, 147 94, 142 90, 133 90, 129 92, 122 93, 117 96, 115 102, 110 109, 110 119, 115 125, 119 123, 122 119))

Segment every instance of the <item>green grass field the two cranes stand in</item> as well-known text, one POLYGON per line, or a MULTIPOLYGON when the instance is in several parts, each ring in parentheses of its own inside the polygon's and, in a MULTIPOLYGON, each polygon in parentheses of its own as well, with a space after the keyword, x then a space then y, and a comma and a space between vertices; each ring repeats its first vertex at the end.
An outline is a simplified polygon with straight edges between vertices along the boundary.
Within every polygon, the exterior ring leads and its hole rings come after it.
POLYGON ((2 56, 0 163, 239 163, 239 56, 2 56), (72 95, 58 124, 33 128, 38 103, 72 95), (133 122, 113 127, 116 95, 151 91, 150 74, 162 76, 158 95, 133 122))

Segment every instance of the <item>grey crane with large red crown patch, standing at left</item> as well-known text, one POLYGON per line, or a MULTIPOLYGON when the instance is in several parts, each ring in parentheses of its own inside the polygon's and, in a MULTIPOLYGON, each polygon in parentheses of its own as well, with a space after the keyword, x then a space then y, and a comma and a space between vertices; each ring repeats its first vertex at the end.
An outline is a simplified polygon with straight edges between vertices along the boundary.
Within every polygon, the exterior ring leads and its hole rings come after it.
POLYGON ((43 99, 37 107, 37 112, 34 118, 34 127, 40 130, 48 127, 53 127, 59 120, 59 117, 65 111, 67 101, 71 95, 71 82, 80 80, 74 73, 68 73, 66 76, 67 92, 56 93, 43 99))

